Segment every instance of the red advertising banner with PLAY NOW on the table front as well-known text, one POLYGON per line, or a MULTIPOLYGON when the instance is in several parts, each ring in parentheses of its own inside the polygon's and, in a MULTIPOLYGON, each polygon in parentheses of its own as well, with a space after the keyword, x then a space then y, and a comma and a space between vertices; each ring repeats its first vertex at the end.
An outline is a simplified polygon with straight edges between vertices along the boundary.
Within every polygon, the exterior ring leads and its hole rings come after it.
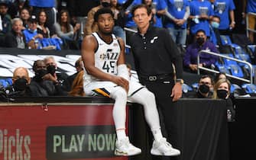
POLYGON ((0 106, 1 160, 128 160, 115 139, 112 104, 0 106))

